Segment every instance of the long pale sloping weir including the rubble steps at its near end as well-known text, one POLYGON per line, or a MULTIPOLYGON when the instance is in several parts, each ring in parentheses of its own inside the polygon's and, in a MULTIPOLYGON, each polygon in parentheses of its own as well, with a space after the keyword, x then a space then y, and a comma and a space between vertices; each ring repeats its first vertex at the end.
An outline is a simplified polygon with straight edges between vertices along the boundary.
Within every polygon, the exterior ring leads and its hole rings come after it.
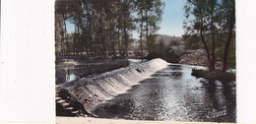
MULTIPOLYGON (((96 105, 115 95, 125 93, 140 81, 165 68, 168 63, 162 59, 133 64, 93 78, 64 83, 56 87, 57 116, 70 110, 72 115, 90 113, 96 105), (81 109, 84 108, 84 112, 81 109), (60 109, 60 110, 58 110, 60 109)), ((70 115, 70 114, 67 114, 70 115)))

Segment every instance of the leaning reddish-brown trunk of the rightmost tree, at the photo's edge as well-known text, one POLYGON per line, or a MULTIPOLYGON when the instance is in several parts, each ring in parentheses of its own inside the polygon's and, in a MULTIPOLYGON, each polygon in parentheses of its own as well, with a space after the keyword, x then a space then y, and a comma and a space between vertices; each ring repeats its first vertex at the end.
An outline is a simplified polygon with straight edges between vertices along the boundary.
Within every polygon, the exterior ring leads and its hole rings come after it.
POLYGON ((226 62, 227 62, 227 54, 228 54, 228 47, 232 38, 232 32, 233 32, 233 27, 234 24, 232 22, 230 22, 230 27, 229 27, 229 32, 228 32, 228 39, 225 43, 225 47, 224 47, 224 67, 223 67, 223 72, 226 71, 226 62))

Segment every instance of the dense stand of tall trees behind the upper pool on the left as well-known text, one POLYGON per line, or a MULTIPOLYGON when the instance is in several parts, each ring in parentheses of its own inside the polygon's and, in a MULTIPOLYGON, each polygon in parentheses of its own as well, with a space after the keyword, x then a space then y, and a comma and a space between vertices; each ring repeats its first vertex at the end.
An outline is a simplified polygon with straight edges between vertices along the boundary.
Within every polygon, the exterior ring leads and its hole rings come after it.
POLYGON ((160 29, 161 0, 56 0, 56 57, 128 56, 132 31, 151 51, 150 37, 160 29), (74 25, 68 32, 67 26, 74 25))

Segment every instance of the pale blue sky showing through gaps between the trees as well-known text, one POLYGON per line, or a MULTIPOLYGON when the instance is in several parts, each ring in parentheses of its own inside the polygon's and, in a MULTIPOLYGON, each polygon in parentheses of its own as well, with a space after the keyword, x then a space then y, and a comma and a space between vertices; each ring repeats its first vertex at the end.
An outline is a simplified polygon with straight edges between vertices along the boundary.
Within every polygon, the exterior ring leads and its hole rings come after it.
MULTIPOLYGON (((183 31, 184 4, 186 0, 163 0, 165 7, 163 10, 162 20, 160 23, 160 30, 157 33, 181 36, 183 31)), ((67 26, 68 31, 74 31, 72 25, 67 26)), ((133 31, 133 37, 139 38, 139 33, 133 31)))

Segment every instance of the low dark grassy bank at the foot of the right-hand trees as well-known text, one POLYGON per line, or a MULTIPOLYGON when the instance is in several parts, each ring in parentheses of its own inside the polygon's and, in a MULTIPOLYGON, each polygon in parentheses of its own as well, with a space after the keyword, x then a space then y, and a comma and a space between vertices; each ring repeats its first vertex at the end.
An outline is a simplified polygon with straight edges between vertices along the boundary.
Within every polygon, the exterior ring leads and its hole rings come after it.
POLYGON ((223 72, 221 70, 209 71, 192 69, 192 76, 196 78, 204 78, 207 80, 219 80, 221 82, 235 81, 235 73, 223 72))

